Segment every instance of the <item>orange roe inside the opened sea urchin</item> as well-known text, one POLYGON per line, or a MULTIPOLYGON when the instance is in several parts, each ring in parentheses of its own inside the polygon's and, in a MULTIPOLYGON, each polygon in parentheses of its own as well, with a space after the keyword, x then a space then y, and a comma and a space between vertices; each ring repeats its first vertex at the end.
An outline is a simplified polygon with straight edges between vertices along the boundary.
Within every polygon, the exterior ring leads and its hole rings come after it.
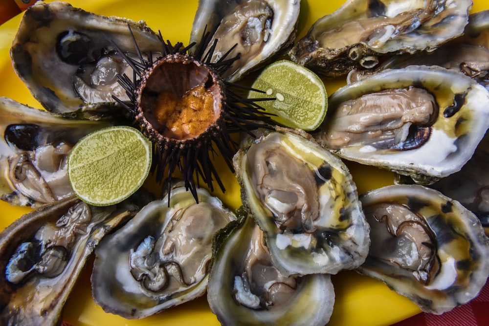
POLYGON ((158 95, 154 115, 168 128, 165 136, 189 139, 204 132, 216 119, 214 96, 203 85, 192 88, 181 97, 163 91, 158 95))

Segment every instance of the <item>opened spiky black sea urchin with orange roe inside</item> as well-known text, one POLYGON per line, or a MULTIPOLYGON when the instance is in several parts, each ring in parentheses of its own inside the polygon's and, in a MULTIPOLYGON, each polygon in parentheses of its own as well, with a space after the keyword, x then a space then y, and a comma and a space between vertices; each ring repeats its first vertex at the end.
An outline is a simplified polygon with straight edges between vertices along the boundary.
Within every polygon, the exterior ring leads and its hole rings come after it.
MULTIPOLYGON (((152 171, 156 180, 161 182, 168 168, 166 177, 171 181, 178 168, 185 187, 197 202, 200 179, 211 191, 213 181, 225 191, 213 165, 216 149, 234 173, 232 158, 236 144, 230 134, 239 131, 252 134, 252 130, 273 125, 256 103, 269 98, 248 100, 242 93, 249 88, 228 83, 221 77, 239 55, 227 58, 231 48, 219 61, 211 62, 218 41, 214 40, 214 46, 205 52, 209 35, 204 32, 199 44, 184 47, 183 43, 164 42, 160 34, 162 52, 155 60, 154 54, 143 56, 134 40, 137 58, 122 54, 133 68, 133 77, 119 76, 130 101, 114 97, 130 111, 133 125, 153 142, 152 171), (194 46, 196 50, 190 52, 194 46)), ((168 194, 170 184, 167 183, 168 194)))

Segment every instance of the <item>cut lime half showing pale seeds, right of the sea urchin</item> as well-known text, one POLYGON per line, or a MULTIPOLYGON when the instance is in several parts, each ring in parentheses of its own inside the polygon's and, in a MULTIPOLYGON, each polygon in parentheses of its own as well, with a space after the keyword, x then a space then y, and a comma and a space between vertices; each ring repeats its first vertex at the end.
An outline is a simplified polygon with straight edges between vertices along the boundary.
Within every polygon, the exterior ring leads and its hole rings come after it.
POLYGON ((288 60, 265 67, 254 81, 248 98, 276 98, 259 102, 276 123, 289 128, 314 130, 324 120, 328 96, 323 81, 308 68, 288 60))

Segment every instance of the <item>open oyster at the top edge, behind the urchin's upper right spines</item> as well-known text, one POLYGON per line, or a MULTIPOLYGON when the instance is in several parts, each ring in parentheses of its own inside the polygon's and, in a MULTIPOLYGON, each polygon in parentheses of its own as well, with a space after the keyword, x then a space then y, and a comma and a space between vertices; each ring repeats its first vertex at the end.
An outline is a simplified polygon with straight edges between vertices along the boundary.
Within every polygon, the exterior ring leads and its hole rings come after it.
POLYGON ((205 51, 211 51, 211 62, 239 54, 222 74, 233 82, 292 46, 299 10, 300 0, 199 0, 190 42, 200 43, 210 30, 209 38, 217 41, 205 51))

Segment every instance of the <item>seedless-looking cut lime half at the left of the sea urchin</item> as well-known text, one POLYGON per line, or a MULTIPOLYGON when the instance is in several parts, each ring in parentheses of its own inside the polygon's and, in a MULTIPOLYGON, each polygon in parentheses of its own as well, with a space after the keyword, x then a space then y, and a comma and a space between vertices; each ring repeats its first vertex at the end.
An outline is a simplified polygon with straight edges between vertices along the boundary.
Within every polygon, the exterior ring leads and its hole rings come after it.
POLYGON ((139 189, 151 166, 152 145, 132 127, 89 133, 68 155, 68 178, 76 196, 94 206, 116 204, 139 189))

